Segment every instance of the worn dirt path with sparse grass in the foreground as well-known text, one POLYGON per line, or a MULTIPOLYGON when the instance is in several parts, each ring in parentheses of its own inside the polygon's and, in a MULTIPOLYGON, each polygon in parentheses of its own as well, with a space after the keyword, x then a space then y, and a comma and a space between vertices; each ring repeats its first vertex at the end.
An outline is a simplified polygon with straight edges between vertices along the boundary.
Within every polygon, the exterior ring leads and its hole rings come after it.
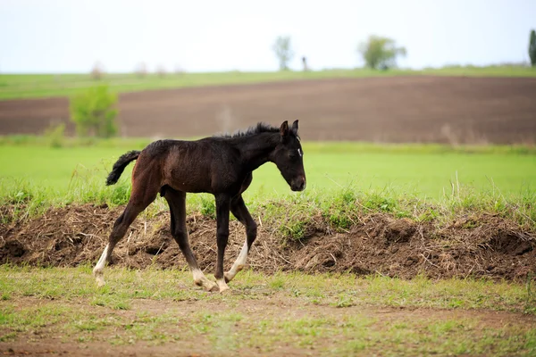
MULTIPOLYGON (((3 304, 0 303, 0 308, 3 304)), ((336 348, 348 345, 348 341, 360 334, 364 335, 366 347, 355 352, 363 355, 396 351, 418 353, 418 343, 414 344, 419 340, 429 345, 427 348, 433 353, 449 339, 454 349, 458 342, 469 343, 492 331, 519 333, 523 328, 536 326, 535 316, 519 313, 370 305, 341 309, 304 303, 283 294, 266 295, 261 300, 246 298, 239 303, 225 299, 220 302, 140 299, 134 300, 128 311, 92 306, 83 299, 44 301, 21 297, 14 305, 19 311, 60 307, 63 311, 84 311, 84 316, 73 315, 56 323, 43 322, 18 334, 15 340, 0 342, 0 352, 4 355, 332 355, 336 348), (99 328, 88 328, 84 325, 88 324, 84 320, 88 315, 91 321, 108 322, 99 328), (83 322, 76 325, 76 321, 70 321, 73 319, 83 322), (259 324, 259 321, 267 322, 259 324), (445 331, 440 331, 444 336, 437 340, 433 328, 443 325, 436 321, 447 322, 445 331), (73 324, 79 328, 72 329, 73 324), (404 331, 411 331, 412 339, 398 341, 397 336, 404 331), (467 332, 471 336, 465 341, 467 332), (381 338, 381 345, 366 343, 367 339, 377 338, 381 338), (391 346, 397 341, 398 345, 391 346)), ((4 328, 0 328, 0 332, 2 330, 4 328)))

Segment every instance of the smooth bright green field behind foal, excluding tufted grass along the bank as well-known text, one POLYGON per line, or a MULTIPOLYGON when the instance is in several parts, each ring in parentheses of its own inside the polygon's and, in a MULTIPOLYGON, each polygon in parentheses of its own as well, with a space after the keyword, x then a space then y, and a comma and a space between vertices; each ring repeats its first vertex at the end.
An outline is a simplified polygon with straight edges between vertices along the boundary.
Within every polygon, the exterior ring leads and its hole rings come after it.
MULTIPOLYGON (((64 147, 0 145, 0 177, 6 181, 25 180, 35 187, 66 195, 70 183, 80 180, 104 186, 113 162, 130 149, 145 143, 121 147, 64 147)), ((536 189, 536 155, 507 148, 479 152, 456 151, 442 146, 363 145, 352 143, 306 143, 304 162, 308 190, 319 195, 353 187, 358 191, 387 190, 399 195, 440 199, 450 195, 452 185, 476 192, 499 191, 519 196, 536 189)), ((130 182, 130 170, 121 177, 130 182)), ((289 187, 272 163, 254 173, 250 197, 288 195, 289 187)), ((6 193, 3 192, 2 195, 6 193)))

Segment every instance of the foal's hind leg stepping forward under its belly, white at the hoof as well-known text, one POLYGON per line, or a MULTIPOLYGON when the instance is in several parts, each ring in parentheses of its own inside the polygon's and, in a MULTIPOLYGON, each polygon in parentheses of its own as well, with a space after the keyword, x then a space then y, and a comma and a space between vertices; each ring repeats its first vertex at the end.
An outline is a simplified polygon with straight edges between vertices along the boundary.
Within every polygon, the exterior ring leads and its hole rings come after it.
POLYGON ((218 286, 205 277, 203 271, 197 266, 197 260, 188 242, 188 229, 186 228, 186 193, 165 187, 166 201, 170 205, 172 217, 172 236, 179 244, 180 251, 186 258, 188 266, 194 276, 197 286, 203 286, 206 291, 218 291, 218 286))

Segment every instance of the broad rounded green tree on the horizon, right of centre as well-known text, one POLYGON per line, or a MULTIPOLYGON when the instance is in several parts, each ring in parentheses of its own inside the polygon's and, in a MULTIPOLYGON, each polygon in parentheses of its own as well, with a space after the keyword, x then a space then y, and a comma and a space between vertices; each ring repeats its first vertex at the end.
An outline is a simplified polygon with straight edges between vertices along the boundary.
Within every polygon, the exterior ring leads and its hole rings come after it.
POLYGON ((396 66, 397 57, 406 55, 406 48, 398 47, 395 40, 388 37, 371 35, 357 49, 364 63, 373 70, 386 70, 396 66))

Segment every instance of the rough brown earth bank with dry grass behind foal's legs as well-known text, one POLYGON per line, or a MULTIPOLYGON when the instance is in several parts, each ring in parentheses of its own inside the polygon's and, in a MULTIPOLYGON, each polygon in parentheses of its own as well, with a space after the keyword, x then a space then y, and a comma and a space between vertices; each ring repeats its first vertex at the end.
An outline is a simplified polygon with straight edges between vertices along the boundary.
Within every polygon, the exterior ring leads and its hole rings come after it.
MULTIPOLYGON (((70 267, 94 264, 123 207, 92 204, 52 208, 40 217, 0 224, 0 263, 70 267)), ((3 211, 10 208, 4 206, 3 211)), ((134 269, 149 265, 185 269, 187 264, 169 228, 169 212, 140 215, 113 251, 113 264, 134 269)), ((260 222, 259 222, 260 223, 260 222)), ((192 249, 203 270, 214 272, 216 224, 188 216, 192 249)), ((245 239, 244 228, 230 221, 225 267, 230 268, 245 239)), ((281 237, 260 224, 248 257, 253 270, 353 272, 389 277, 485 277, 524 280, 536 275, 536 235, 513 221, 490 214, 448 225, 416 223, 388 214, 365 216, 346 232, 336 232, 321 217, 300 240, 281 237)))

